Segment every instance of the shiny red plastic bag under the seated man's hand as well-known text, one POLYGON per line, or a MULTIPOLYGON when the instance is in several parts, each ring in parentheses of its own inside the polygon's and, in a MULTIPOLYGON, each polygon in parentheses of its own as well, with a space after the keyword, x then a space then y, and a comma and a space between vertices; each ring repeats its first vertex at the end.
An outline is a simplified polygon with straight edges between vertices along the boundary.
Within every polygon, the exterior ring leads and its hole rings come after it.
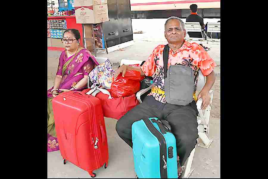
POLYGON ((124 77, 120 73, 116 79, 113 78, 110 94, 114 98, 131 96, 140 90, 140 81, 143 79, 141 72, 135 70, 127 70, 124 77))

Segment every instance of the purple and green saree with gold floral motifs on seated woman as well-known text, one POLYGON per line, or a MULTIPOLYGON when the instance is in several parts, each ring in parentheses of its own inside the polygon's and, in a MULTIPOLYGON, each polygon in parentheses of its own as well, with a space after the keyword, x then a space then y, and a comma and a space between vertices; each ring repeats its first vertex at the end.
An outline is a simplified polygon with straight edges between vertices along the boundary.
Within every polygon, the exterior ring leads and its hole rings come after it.
MULTIPOLYGON (((84 78, 84 75, 88 75, 97 65, 99 65, 99 63, 96 61, 95 57, 85 48, 80 47, 78 52, 69 58, 67 58, 66 51, 64 50, 60 55, 56 74, 62 75, 59 89, 71 89, 84 78)), ((75 91, 82 91, 85 88, 87 88, 87 85, 75 91)), ((53 87, 47 90, 47 152, 59 150, 52 110, 52 95, 50 93, 52 89, 53 87)))

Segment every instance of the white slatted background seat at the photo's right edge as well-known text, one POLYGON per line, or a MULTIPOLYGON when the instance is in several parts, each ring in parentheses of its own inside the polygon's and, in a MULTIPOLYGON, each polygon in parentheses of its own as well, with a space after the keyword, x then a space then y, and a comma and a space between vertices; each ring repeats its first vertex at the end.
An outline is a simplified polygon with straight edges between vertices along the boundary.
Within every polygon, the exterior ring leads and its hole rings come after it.
POLYGON ((210 33, 210 36, 207 35, 206 40, 208 44, 221 44, 221 39, 212 38, 212 33, 221 33, 221 23, 220 22, 208 22, 207 34, 210 33))

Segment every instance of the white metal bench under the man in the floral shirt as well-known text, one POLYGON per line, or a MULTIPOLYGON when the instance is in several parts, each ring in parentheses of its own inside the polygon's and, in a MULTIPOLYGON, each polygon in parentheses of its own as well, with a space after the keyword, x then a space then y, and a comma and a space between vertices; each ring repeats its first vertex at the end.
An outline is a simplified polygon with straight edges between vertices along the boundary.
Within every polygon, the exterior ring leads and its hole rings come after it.
MULTIPOLYGON (((101 64, 102 62, 104 62, 105 60, 107 60, 108 58, 102 58, 102 57, 95 57, 96 60, 98 61, 99 64, 101 64)), ((129 60, 129 59, 122 59, 120 66, 122 64, 125 65, 131 65, 131 64, 141 64, 142 61, 141 60, 129 60)), ((116 70, 116 69, 114 69, 116 70)), ((198 81, 197 81, 197 91, 201 91, 202 88, 205 85, 205 80, 206 78, 203 76, 202 72, 199 70, 198 71, 199 75, 198 75, 198 81)), ((138 101, 140 103, 142 103, 141 101, 141 95, 144 94, 145 92, 147 92, 148 90, 150 90, 152 88, 152 85, 146 89, 142 89, 139 92, 136 93, 136 97, 138 99, 138 101)), ((202 98, 200 98, 197 101, 197 110, 199 112, 199 115, 197 116, 197 123, 198 123, 198 135, 199 138, 202 140, 203 143, 198 143, 198 146, 200 147, 204 147, 204 148, 208 148, 212 142, 212 140, 210 140, 207 136, 208 132, 209 132, 209 118, 210 118, 210 112, 211 112, 211 104, 212 104, 212 99, 213 99, 213 90, 209 91, 210 94, 210 104, 208 105, 208 107, 205 109, 205 111, 203 111, 201 109, 201 104, 202 104, 202 98)), ((196 148, 196 146, 195 146, 196 148)), ((194 169, 191 169, 191 165, 192 165, 192 161, 194 158, 194 152, 195 152, 195 148, 192 150, 190 156, 188 157, 185 166, 183 166, 184 168, 184 172, 183 172, 183 178, 188 178, 191 173, 193 172, 194 169)))

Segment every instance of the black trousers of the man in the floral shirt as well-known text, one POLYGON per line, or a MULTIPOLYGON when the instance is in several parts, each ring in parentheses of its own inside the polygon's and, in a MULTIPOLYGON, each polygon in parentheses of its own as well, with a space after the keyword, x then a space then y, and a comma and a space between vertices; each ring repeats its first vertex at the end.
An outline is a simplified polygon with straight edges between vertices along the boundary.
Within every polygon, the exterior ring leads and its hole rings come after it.
POLYGON ((180 157, 180 164, 183 166, 197 144, 197 114, 195 101, 187 106, 179 106, 163 104, 156 101, 153 96, 147 96, 141 104, 128 111, 117 121, 116 131, 120 138, 132 148, 131 126, 135 121, 148 117, 165 119, 169 122, 172 133, 176 138, 177 155, 180 157))

